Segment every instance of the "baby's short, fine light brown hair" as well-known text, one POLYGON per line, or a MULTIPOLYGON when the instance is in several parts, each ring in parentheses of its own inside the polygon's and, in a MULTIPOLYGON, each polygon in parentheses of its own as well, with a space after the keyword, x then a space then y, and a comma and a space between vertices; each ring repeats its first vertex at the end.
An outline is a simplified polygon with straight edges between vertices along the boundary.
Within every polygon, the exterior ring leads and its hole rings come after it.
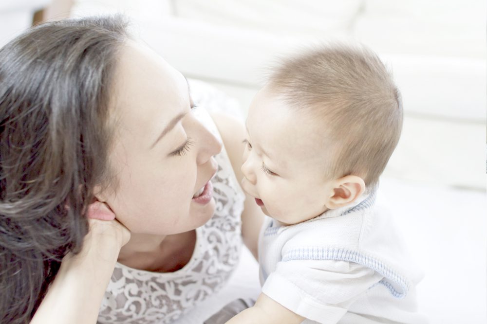
POLYGON ((284 59, 268 86, 291 108, 323 121, 338 147, 327 177, 360 176, 369 189, 377 183, 403 113, 392 75, 374 52, 344 44, 308 50, 284 59))

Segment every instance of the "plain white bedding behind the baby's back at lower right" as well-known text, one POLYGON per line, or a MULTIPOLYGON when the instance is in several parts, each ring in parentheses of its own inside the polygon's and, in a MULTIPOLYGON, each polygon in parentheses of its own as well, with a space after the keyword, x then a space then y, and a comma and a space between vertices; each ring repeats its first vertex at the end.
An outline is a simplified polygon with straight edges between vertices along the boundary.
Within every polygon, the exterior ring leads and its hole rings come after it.
POLYGON ((425 271, 418 286, 422 312, 432 324, 485 324, 486 192, 387 179, 381 186, 425 271))

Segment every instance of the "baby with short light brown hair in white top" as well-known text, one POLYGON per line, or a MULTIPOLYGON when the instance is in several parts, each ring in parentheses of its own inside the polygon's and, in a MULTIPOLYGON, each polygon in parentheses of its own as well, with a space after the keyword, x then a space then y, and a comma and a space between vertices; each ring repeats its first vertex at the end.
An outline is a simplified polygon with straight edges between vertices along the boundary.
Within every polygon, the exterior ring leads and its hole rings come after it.
POLYGON ((263 286, 227 323, 424 323, 421 275, 375 204, 402 126, 399 91, 376 54, 339 45, 287 59, 246 126, 242 185, 269 216, 263 286))

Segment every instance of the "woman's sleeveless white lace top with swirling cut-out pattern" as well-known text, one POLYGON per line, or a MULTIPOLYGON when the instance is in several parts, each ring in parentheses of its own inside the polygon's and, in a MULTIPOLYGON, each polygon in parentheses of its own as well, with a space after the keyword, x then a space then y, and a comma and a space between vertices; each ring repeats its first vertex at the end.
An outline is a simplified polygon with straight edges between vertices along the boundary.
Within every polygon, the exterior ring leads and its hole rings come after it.
MULTIPOLYGON (((195 114, 220 137, 206 110, 198 108, 195 114)), ((212 183, 216 211, 196 229, 191 260, 169 273, 136 270, 117 263, 98 323, 171 323, 225 285, 239 261, 244 194, 225 149, 215 158, 218 171, 212 183)))

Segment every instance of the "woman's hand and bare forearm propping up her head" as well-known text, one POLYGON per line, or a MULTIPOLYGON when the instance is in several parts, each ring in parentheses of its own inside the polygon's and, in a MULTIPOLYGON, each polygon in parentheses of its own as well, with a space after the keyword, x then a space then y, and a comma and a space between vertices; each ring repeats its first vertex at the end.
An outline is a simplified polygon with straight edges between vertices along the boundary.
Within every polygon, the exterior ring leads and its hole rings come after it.
POLYGON ((90 230, 77 254, 68 253, 32 323, 96 323, 118 253, 130 239, 107 205, 90 205, 90 230))

